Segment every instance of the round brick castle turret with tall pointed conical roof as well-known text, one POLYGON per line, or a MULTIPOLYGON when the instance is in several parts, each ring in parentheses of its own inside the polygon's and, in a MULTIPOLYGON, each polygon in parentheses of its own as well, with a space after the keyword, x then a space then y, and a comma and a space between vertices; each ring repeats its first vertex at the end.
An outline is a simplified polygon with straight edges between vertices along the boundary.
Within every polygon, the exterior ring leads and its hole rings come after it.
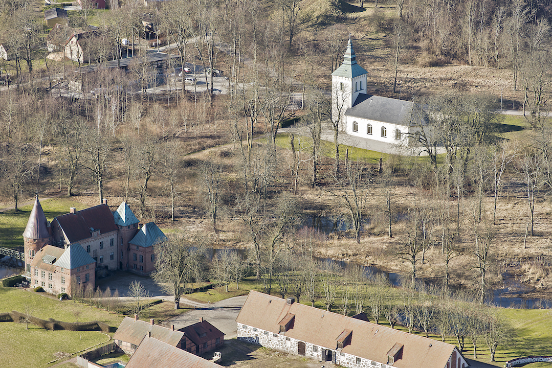
POLYGON ((23 242, 25 248, 25 272, 30 272, 30 263, 34 258, 36 252, 43 248, 46 244, 52 243, 51 229, 50 224, 46 220, 46 215, 40 201, 38 200, 38 195, 29 216, 29 221, 27 221, 27 226, 23 232, 23 242))

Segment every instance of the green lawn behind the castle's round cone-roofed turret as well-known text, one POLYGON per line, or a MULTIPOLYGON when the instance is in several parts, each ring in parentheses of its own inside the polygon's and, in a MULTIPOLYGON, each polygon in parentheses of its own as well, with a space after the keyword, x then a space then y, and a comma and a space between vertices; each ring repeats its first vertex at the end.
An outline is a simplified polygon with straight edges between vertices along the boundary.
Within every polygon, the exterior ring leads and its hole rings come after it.
MULTIPOLYGON (((34 201, 33 201, 34 203, 34 201)), ((67 214, 69 207, 83 210, 86 205, 73 201, 70 198, 52 198, 40 201, 46 219, 52 221, 54 217, 67 214)), ((29 220, 33 205, 19 207, 19 211, 7 210, 0 212, 0 245, 2 247, 23 247, 23 232, 29 220)))

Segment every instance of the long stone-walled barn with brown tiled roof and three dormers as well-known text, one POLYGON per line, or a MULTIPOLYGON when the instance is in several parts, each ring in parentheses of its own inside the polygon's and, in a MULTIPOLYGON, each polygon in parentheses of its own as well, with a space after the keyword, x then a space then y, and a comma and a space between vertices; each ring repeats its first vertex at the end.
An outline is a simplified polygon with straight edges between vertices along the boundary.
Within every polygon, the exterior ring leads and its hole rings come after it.
POLYGON ((456 346, 251 291, 236 318, 248 343, 348 368, 465 368, 456 346))

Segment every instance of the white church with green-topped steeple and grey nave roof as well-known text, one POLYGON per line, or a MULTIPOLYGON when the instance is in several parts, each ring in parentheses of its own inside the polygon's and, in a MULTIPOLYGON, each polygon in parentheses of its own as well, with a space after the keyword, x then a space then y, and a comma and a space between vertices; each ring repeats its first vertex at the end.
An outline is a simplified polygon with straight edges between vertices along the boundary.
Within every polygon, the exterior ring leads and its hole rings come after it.
MULTIPOLYGON (((357 64, 349 36, 343 63, 332 73, 332 120, 339 119, 340 130, 392 147, 419 130, 413 107, 412 102, 367 93, 367 71, 357 64)), ((352 145, 379 151, 376 147, 363 147, 358 141, 352 145)), ((406 152, 397 149, 397 153, 406 152)))

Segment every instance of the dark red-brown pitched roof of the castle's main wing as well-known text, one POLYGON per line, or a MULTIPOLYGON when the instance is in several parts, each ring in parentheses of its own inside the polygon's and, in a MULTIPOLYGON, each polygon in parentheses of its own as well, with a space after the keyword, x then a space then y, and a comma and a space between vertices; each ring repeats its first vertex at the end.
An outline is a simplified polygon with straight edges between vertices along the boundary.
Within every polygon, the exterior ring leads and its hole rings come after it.
POLYGON ((92 231, 99 230, 100 234, 105 234, 118 230, 113 214, 104 204, 76 211, 74 214, 57 216, 54 221, 60 224, 71 244, 88 239, 92 231))

